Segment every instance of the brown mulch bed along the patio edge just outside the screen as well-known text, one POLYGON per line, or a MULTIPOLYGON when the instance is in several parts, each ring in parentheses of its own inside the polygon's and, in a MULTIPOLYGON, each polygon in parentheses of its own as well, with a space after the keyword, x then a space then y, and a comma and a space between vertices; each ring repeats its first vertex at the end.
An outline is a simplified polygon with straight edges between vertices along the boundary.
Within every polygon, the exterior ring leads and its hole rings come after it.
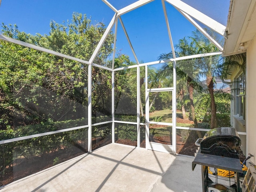
MULTIPOLYGON (((162 144, 170 144, 170 137, 164 136, 164 137, 154 137, 154 141, 162 144)), ((101 146, 104 146, 106 144, 110 144, 110 139, 97 139, 95 142, 93 142, 92 149, 99 148, 101 146)), ((120 140, 118 139, 116 143, 120 144, 126 144, 131 146, 137 146, 137 141, 131 141, 131 140, 120 140)), ((140 147, 145 148, 146 142, 143 140, 140 144, 140 147)), ((178 154, 186 154, 194 156, 194 152, 196 151, 196 147, 194 144, 184 144, 181 141, 181 136, 177 135, 177 153, 178 154)), ((87 149, 86 149, 87 150, 87 149)), ((56 152, 57 153, 57 152, 56 152)), ((77 150, 74 154, 48 154, 47 158, 42 160, 42 158, 37 157, 34 159, 34 162, 29 162, 29 160, 25 158, 18 158, 14 164, 12 164, 12 167, 10 168, 13 171, 6 172, 4 177, 0 178, 0 186, 6 185, 8 183, 11 183, 15 180, 18 180, 20 178, 24 178, 28 175, 34 174, 36 172, 39 172, 41 170, 47 169, 51 166, 53 166, 53 159, 57 156, 59 157, 58 163, 64 162, 66 160, 72 159, 76 156, 79 156, 81 154, 84 154, 85 151, 77 150), (14 174, 15 173, 15 174, 14 174)), ((8 168, 9 169, 9 168, 8 168)))

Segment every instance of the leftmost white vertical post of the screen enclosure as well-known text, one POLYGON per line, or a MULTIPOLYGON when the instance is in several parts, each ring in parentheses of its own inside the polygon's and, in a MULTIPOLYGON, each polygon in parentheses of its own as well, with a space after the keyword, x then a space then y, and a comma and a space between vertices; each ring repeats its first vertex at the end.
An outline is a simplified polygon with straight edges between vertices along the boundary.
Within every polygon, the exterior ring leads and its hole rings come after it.
POLYGON ((88 66, 88 152, 92 152, 92 65, 88 66))

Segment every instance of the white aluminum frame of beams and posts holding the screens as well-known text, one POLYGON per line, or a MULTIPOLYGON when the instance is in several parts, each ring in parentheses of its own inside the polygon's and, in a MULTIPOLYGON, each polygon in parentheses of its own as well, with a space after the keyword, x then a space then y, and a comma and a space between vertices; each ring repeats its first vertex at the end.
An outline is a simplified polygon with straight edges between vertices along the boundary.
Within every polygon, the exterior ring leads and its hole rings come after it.
MULTIPOLYGON (((149 123, 156 123, 156 122, 150 122, 149 121, 149 98, 148 98, 148 93, 149 92, 156 92, 156 91, 172 91, 172 108, 173 108, 173 117, 172 117, 172 123, 161 123, 161 124, 166 124, 166 125, 172 125, 173 127, 173 138, 172 138, 172 143, 173 143, 173 152, 174 154, 176 154, 176 129, 188 129, 188 130, 201 130, 202 129, 198 129, 198 128, 183 128, 183 127, 177 127, 176 126, 176 61, 178 60, 185 60, 185 59, 190 59, 190 58, 199 58, 199 57, 204 57, 204 56, 211 56, 211 55, 218 55, 218 54, 222 54, 222 52, 215 52, 215 53, 207 53, 207 54, 198 54, 198 55, 192 55, 192 56, 184 56, 184 57, 179 57, 176 58, 175 54, 173 55, 173 58, 168 59, 168 60, 160 60, 160 61, 153 61, 153 62, 148 62, 148 63, 144 63, 144 64, 139 64, 138 62, 138 58, 136 56, 136 52, 134 51, 133 47, 132 47, 132 43, 129 39, 128 33, 126 32, 126 29, 124 27, 124 23, 122 22, 122 19, 120 16, 122 16, 123 14, 126 14, 138 7, 141 7, 145 4, 148 4, 154 0, 138 0, 137 2, 134 2, 133 4, 130 4, 129 6, 126 6, 120 10, 117 10, 116 8, 114 8, 114 6, 112 6, 112 4, 110 4, 107 0, 102 0, 106 5, 108 5, 113 11, 114 11, 114 16, 112 18, 112 20, 110 21, 108 27, 106 28, 106 31, 104 32, 100 42, 98 43, 96 49, 94 50, 91 58, 89 61, 86 60, 82 60, 79 58, 75 58, 72 56, 68 56, 66 54, 61 54, 59 52, 55 52, 46 48, 42 48, 33 44, 29 44, 26 42, 22 42, 20 40, 16 40, 13 38, 9 38, 6 37, 4 35, 0 34, 0 39, 1 40, 5 40, 8 42, 12 42, 14 44, 18 44, 21 46, 25 46, 28 48, 32 48, 35 50, 39 50, 42 52, 46 52, 49 54, 53 54, 56 56, 60 56, 62 58, 67 58, 70 60, 74 60, 83 64, 87 64, 88 65, 88 125, 84 125, 84 126, 78 126, 78 127, 73 127, 73 128, 67 128, 64 130, 58 130, 58 131, 53 131, 53 132, 46 132, 46 133, 41 133, 41 134, 34 134, 34 135, 30 135, 30 136, 24 136, 24 137, 20 137, 20 138, 14 138, 14 139, 9 139, 9 140, 3 140, 0 141, 0 144, 5 144, 5 143, 9 143, 9 142, 15 142, 15 141, 19 141, 19 140, 24 140, 24 139, 29 139, 29 138, 35 138, 35 137, 39 137, 39 136, 46 136, 46 135, 50 135, 50 134, 56 134, 56 133, 60 133, 60 132, 66 132, 66 131, 70 131, 70 130, 76 130, 76 129, 81 129, 81 128, 88 128, 88 151, 92 152, 92 126, 97 126, 100 124, 107 124, 107 123, 112 123, 112 142, 114 143, 114 124, 115 123, 125 123, 125 124, 136 124, 137 125, 137 134, 138 134, 138 138, 137 138, 137 146, 138 148, 140 148, 140 125, 145 125, 146 126, 146 149, 150 149, 150 145, 152 143, 149 142, 149 123), (122 68, 114 68, 114 58, 115 58, 115 48, 116 48, 116 34, 117 34, 117 27, 118 27, 118 19, 120 20, 120 24, 122 26, 122 29, 124 30, 124 33, 126 35, 126 38, 128 40, 128 43, 130 45, 130 48, 132 50, 132 53, 134 55, 134 58, 137 62, 136 65, 134 66, 127 66, 127 67, 122 67, 122 68), (112 62, 112 68, 108 68, 108 67, 104 67, 104 66, 100 66, 98 64, 94 64, 93 61, 96 58, 98 52, 100 51, 100 48, 102 47, 104 41, 106 40, 108 34, 110 33, 110 31, 112 30, 113 26, 115 25, 115 34, 114 34, 114 50, 113 50, 113 62, 112 62), (160 64, 160 63, 166 63, 166 62, 173 62, 173 88, 158 88, 158 89, 148 89, 148 79, 145 78, 145 94, 146 94, 146 108, 145 108, 145 113, 146 113, 146 123, 140 123, 140 66, 146 66, 145 67, 145 74, 147 77, 148 74, 148 68, 147 66, 153 65, 153 64, 160 64), (98 68, 102 68, 105 70, 109 70, 112 72, 112 120, 111 121, 107 121, 107 122, 100 122, 100 123, 96 123, 96 124, 92 124, 92 66, 98 67, 98 68), (125 69, 129 69, 129 68, 136 68, 137 69, 137 122, 123 122, 123 121, 116 121, 114 118, 114 72, 118 71, 118 70, 125 70, 125 69)), ((174 53, 174 45, 172 42, 172 35, 171 35, 171 30, 170 30, 170 25, 169 25, 169 21, 168 21, 168 16, 166 13, 166 7, 165 7, 165 2, 171 4, 172 6, 174 6, 174 8, 176 8, 185 18, 187 18, 196 28, 198 28, 198 30, 200 30, 200 32, 202 32, 212 43, 214 43, 219 49, 220 51, 223 50, 222 46, 220 46, 218 44, 218 42, 216 42, 209 34, 207 34, 205 32, 204 29, 202 29, 197 22, 194 20, 198 20, 199 22, 201 22, 202 24, 208 26, 209 28, 213 29, 214 31, 218 32, 219 34, 221 34, 222 36, 224 36, 224 32, 226 30, 226 27, 223 26, 222 24, 216 22, 215 20, 213 20, 212 18, 206 16, 205 14, 199 12, 198 10, 194 9, 193 7, 189 6, 188 4, 182 2, 181 0, 162 0, 162 7, 163 7, 163 11, 164 11, 164 17, 166 20, 166 27, 168 30, 168 36, 169 36, 169 41, 170 41, 170 47, 172 52, 174 53), (194 18, 194 19, 193 19, 194 18)), ((0 0, 0 4, 1 4, 1 0, 0 0)), ((207 130, 206 130, 207 131, 207 130)), ((238 134, 241 135, 246 135, 246 132, 238 132, 238 134)))

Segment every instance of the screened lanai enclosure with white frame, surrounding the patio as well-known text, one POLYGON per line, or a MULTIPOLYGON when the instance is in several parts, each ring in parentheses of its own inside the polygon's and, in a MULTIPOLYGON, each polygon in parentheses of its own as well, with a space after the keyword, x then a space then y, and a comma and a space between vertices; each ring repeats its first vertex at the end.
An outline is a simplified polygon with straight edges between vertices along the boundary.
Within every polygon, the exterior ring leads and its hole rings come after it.
POLYGON ((193 156, 230 127, 228 7, 0 0, 1 186, 111 143, 193 156))

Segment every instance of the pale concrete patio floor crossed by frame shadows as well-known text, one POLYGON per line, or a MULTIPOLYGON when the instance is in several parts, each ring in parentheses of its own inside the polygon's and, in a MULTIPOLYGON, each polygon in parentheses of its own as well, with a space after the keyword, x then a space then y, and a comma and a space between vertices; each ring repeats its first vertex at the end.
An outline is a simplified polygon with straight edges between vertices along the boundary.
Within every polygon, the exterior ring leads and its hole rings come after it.
POLYGON ((200 192, 194 157, 110 144, 4 186, 1 192, 200 192))

